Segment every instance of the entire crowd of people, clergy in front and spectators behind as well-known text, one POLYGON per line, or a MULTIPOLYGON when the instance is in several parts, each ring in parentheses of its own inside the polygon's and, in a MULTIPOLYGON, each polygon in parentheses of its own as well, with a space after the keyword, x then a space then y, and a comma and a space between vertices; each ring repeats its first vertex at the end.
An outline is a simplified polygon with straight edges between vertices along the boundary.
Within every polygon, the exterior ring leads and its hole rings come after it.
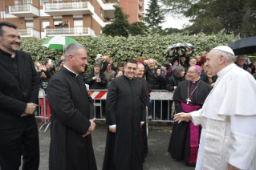
POLYGON ((115 67, 108 55, 97 55, 83 80, 88 63, 82 45, 71 43, 55 66, 51 60, 34 64, 20 51, 16 28, 0 22, 2 170, 18 169, 21 156, 22 169, 39 169, 34 113, 39 88, 47 93, 47 113, 42 114, 51 121, 49 169, 97 169, 91 140, 96 126, 93 100, 84 83, 108 89, 104 170, 143 169, 148 154, 146 112, 148 119, 159 119, 158 101, 150 100, 154 89, 174 93, 171 112, 164 113, 177 112, 168 148, 173 160, 184 160, 197 170, 256 168, 256 63, 247 67, 242 55, 234 63, 230 47, 215 47, 193 59, 188 50, 163 66, 154 59, 128 59, 115 67))

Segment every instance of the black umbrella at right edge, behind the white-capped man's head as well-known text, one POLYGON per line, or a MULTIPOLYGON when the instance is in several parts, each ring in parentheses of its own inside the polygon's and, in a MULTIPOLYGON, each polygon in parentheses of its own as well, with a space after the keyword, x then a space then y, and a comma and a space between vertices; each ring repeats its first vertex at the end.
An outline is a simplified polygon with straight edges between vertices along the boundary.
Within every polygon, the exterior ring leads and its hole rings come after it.
POLYGON ((242 38, 229 44, 234 55, 250 55, 256 53, 256 37, 242 38))

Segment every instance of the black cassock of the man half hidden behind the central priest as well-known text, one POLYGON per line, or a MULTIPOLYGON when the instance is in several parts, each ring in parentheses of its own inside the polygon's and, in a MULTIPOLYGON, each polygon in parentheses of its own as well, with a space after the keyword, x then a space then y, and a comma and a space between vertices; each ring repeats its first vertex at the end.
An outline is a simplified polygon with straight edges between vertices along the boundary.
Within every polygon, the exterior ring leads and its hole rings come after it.
MULTIPOLYGON (((146 101, 146 106, 148 107, 149 104, 149 97, 151 93, 151 87, 148 84, 147 80, 141 78, 140 82, 142 83, 145 91, 145 101, 146 101)), ((147 137, 147 125, 146 122, 142 125, 141 127, 141 144, 143 146, 143 160, 144 157, 148 155, 148 137, 147 137)), ((144 161, 143 161, 144 162, 144 161)))

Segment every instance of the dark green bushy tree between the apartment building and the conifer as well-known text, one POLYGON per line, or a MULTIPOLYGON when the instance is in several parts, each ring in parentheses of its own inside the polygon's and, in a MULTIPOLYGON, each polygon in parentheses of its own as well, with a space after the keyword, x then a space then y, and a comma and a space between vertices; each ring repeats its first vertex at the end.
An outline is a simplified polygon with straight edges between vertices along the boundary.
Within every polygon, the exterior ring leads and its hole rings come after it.
POLYGON ((103 34, 114 36, 124 36, 128 37, 128 14, 124 14, 123 10, 119 6, 114 6, 115 8, 115 21, 111 24, 104 26, 102 29, 103 34))

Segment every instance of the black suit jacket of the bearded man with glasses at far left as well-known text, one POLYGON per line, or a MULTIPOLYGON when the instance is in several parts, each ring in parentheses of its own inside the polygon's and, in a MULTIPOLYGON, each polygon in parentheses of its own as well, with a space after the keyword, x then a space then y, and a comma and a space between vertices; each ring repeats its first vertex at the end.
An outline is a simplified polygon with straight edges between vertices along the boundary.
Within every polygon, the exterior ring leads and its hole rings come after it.
MULTIPOLYGON (((0 130, 19 127, 25 119, 35 120, 35 115, 21 117, 26 103, 38 103, 40 78, 31 56, 17 51, 19 77, 6 60, 6 52, 0 50, 0 130)), ((10 55, 10 54, 9 54, 10 55)))

